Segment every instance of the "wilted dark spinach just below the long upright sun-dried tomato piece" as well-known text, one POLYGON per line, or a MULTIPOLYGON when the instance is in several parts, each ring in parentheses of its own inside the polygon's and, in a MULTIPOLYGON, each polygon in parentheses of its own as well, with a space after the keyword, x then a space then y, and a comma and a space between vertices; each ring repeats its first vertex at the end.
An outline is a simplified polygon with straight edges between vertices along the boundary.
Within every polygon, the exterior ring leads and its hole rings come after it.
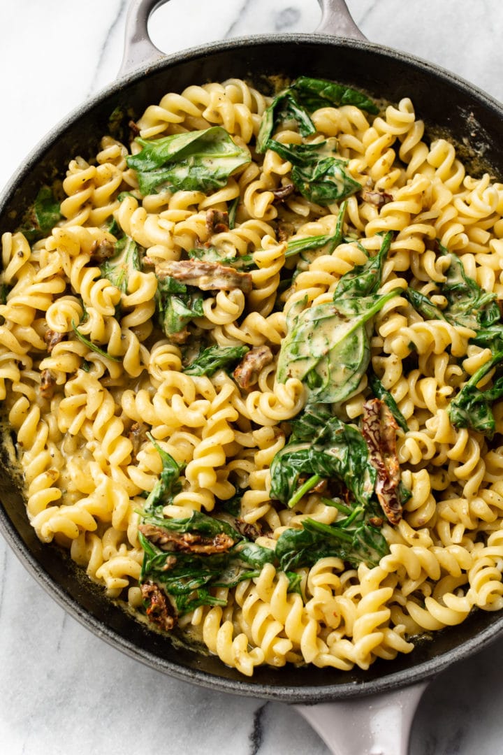
POLYGON ((302 529, 285 530, 276 545, 276 556, 284 572, 312 566, 319 559, 333 556, 354 567, 360 562, 376 566, 388 552, 382 532, 370 524, 362 511, 350 525, 345 525, 344 520, 326 525, 304 519, 302 529))

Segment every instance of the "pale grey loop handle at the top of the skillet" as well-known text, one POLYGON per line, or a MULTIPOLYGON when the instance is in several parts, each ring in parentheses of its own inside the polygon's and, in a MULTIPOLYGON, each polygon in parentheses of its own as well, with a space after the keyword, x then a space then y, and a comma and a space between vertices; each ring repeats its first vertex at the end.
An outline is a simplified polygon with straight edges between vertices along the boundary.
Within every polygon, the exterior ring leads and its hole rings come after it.
MULTIPOLYGON (((149 35, 149 17, 167 0, 130 0, 124 37, 124 54, 118 78, 121 79, 140 66, 149 66, 164 57, 149 35)), ((315 31, 350 39, 366 39, 351 18, 345 0, 318 0, 321 22, 315 31)))

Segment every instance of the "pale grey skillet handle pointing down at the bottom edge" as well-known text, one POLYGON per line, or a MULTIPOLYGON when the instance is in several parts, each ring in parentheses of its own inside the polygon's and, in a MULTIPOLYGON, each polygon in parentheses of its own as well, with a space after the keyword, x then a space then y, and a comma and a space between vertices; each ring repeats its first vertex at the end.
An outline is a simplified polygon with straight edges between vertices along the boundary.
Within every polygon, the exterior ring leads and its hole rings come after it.
POLYGON ((407 755, 414 713, 427 686, 348 701, 296 704, 333 755, 407 755))

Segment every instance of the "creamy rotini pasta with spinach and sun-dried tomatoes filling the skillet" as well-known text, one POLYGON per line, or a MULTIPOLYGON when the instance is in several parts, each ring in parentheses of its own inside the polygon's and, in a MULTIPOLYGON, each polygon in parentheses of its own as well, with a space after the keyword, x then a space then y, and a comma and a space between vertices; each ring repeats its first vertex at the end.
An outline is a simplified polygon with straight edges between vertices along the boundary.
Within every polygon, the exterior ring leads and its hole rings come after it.
POLYGON ((503 184, 409 99, 301 95, 165 94, 2 236, 38 538, 248 676, 367 669, 503 608, 503 184))

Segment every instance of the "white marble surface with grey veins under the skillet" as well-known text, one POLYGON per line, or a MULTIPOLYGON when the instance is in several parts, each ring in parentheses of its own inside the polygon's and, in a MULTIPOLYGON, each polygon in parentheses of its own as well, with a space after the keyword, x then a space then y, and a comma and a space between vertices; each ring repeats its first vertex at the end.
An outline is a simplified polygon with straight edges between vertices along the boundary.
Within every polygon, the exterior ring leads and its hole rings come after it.
MULTIPOLYGON (((373 42, 439 63, 503 100, 501 0, 348 5, 373 42)), ((51 125, 115 78, 126 9, 126 0, 0 2, 0 185, 51 125)), ((228 36, 311 31, 319 18, 316 0, 171 0, 151 26, 172 52, 228 36)), ((409 755, 503 753, 501 661, 503 639, 431 683, 409 755)), ((152 750, 328 752, 286 705, 198 689, 121 655, 69 618, 0 538, 0 753, 152 750)))

